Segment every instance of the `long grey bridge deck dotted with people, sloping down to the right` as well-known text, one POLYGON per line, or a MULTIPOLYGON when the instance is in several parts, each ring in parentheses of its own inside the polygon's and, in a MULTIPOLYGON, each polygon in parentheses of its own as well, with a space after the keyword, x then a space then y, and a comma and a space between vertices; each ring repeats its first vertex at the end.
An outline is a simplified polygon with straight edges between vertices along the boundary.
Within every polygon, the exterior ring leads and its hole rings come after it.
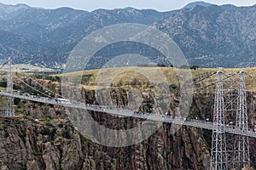
MULTIPOLYGON (((174 119, 171 116, 161 116, 161 115, 147 114, 147 113, 137 114, 137 113, 134 113, 133 111, 128 111, 125 109, 117 109, 117 108, 114 108, 113 106, 111 107, 111 106, 104 106, 104 105, 100 105, 100 106, 85 105, 84 103, 81 103, 81 102, 65 103, 57 99, 49 99, 49 98, 38 97, 38 96, 28 96, 26 94, 7 93, 4 91, 0 91, 0 95, 36 101, 44 104, 61 105, 65 107, 83 109, 87 111, 104 112, 114 116, 132 116, 132 117, 148 119, 148 120, 157 121, 157 122, 169 122, 177 125, 199 127, 199 128, 209 129, 209 130, 213 130, 214 128, 217 127, 217 125, 213 125, 212 122, 206 122, 206 121, 195 120, 195 119, 191 119, 191 120, 184 120, 181 118, 174 119)), ((229 125, 223 125, 223 129, 225 133, 233 133, 233 134, 239 134, 239 135, 256 138, 256 132, 253 132, 253 131, 242 131, 239 128, 230 127, 229 125)))

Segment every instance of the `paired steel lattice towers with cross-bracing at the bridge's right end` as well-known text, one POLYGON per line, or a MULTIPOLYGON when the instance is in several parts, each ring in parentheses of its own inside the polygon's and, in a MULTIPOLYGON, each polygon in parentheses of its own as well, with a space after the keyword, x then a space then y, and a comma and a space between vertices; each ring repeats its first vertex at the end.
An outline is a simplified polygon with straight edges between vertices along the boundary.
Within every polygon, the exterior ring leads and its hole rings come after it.
POLYGON ((247 96, 244 71, 225 75, 217 72, 212 129, 211 170, 250 167, 249 141, 247 136, 228 135, 224 126, 236 119, 236 128, 248 131, 247 96), (225 78, 222 78, 225 75, 225 78), (230 120, 232 118, 232 120, 230 120))

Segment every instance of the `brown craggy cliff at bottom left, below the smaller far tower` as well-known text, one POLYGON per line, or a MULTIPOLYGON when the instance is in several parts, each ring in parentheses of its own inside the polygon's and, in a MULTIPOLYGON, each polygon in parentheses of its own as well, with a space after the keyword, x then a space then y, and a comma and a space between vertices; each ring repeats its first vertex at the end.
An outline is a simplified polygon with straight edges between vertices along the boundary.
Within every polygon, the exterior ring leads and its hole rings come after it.
POLYGON ((79 133, 67 122, 1 118, 2 169, 79 169, 84 155, 79 133), (68 132, 68 133, 67 133, 68 132))

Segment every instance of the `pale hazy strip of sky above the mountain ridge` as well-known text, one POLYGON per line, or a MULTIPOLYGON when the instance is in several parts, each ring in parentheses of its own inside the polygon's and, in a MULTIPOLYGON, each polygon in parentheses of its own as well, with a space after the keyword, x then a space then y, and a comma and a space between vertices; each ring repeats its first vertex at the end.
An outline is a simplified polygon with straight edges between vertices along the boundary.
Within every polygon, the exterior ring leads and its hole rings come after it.
MULTIPOLYGON (((26 3, 32 7, 40 8, 60 8, 71 7, 84 9, 88 11, 96 8, 154 8, 159 11, 167 11, 177 8, 183 8, 188 3, 195 2, 193 0, 0 0, 0 3, 17 4, 26 3)), ((236 6, 252 6, 256 0, 207 0, 207 3, 214 4, 234 4, 236 6)))

